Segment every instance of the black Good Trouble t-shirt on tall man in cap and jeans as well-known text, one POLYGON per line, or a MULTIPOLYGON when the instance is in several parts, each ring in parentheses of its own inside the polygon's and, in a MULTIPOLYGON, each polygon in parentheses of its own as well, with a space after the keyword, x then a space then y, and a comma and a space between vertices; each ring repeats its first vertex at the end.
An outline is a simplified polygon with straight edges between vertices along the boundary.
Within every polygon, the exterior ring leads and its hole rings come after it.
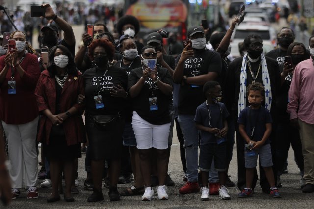
MULTIPOLYGON (((180 59, 181 54, 177 57, 180 59)), ((190 57, 184 62, 184 76, 193 77, 206 75, 209 72, 215 72, 220 75, 221 57, 219 53, 209 50, 194 50, 194 57, 190 57)), ((216 78, 218 80, 218 78, 216 78)), ((179 114, 195 115, 196 108, 205 101, 203 94, 203 85, 183 85, 179 91, 179 114)))

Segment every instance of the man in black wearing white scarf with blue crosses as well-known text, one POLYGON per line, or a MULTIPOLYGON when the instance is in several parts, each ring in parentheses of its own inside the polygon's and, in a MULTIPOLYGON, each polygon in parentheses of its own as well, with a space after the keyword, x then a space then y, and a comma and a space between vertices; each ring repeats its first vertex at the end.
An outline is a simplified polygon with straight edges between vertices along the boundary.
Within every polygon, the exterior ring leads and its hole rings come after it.
MULTIPOLYGON (((226 76, 226 92, 224 94, 225 104, 232 113, 235 121, 237 162, 238 162, 238 183, 240 190, 245 187, 245 166, 244 166, 244 140, 239 134, 237 118, 240 110, 249 106, 250 103, 245 96, 245 87, 252 82, 259 82, 265 86, 265 99, 262 105, 270 110, 273 119, 273 130, 276 125, 276 92, 280 86, 280 71, 278 63, 262 52, 262 38, 258 35, 249 35, 244 39, 244 47, 247 53, 244 57, 233 60, 228 67, 226 76), (243 70, 242 70, 243 69, 243 70)), ((270 136, 272 147, 272 159, 275 158, 274 131, 270 136)), ((274 163, 274 160, 273 160, 274 163)), ((275 164, 274 164, 275 165, 275 164)), ((276 172, 277 169, 273 168, 276 172)), ((274 175, 277 177, 277 175, 274 175)), ((263 169, 260 168, 260 180, 263 192, 269 193, 269 184, 266 180, 263 169)), ((257 172, 254 174, 253 188, 256 185, 257 172)))

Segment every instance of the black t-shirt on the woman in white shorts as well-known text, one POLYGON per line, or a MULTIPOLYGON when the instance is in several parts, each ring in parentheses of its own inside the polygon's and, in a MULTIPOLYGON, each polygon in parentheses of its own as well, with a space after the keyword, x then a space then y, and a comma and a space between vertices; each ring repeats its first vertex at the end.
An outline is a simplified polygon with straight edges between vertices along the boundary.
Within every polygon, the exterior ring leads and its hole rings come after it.
MULTIPOLYGON (((173 86, 173 80, 166 68, 157 67, 157 78, 163 83, 173 86)), ((131 70, 128 78, 128 90, 135 85, 143 76, 143 68, 135 68, 131 70)), ((147 78, 139 95, 133 98, 133 111, 151 124, 161 125, 170 123, 169 104, 172 95, 163 94, 157 84, 151 78, 147 78), (151 110, 150 98, 157 98, 157 110, 151 110)), ((155 105, 155 104, 154 104, 155 105)))

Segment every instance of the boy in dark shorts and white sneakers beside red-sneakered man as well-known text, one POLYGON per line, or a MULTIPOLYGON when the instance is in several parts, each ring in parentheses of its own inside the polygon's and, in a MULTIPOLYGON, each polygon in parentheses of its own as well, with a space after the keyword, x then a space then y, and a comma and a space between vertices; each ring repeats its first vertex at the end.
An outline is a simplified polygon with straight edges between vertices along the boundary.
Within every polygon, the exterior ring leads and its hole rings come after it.
POLYGON ((216 81, 208 81, 203 86, 206 101, 196 109, 194 121, 196 128, 201 130, 199 169, 202 171, 201 200, 209 200, 208 173, 214 160, 215 169, 219 176, 219 197, 229 200, 226 182, 226 139, 228 131, 226 118, 229 113, 221 99, 221 87, 216 81))

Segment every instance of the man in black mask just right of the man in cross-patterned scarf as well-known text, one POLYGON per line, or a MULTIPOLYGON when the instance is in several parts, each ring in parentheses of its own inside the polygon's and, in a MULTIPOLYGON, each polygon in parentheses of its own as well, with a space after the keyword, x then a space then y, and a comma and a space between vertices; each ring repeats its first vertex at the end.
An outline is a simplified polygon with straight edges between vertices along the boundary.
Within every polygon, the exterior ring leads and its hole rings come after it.
POLYGON ((271 50, 266 54, 266 56, 277 60, 279 67, 283 69, 284 57, 287 55, 287 50, 290 44, 293 43, 295 38, 294 32, 291 28, 283 27, 277 34, 277 41, 279 47, 277 49, 271 50))

